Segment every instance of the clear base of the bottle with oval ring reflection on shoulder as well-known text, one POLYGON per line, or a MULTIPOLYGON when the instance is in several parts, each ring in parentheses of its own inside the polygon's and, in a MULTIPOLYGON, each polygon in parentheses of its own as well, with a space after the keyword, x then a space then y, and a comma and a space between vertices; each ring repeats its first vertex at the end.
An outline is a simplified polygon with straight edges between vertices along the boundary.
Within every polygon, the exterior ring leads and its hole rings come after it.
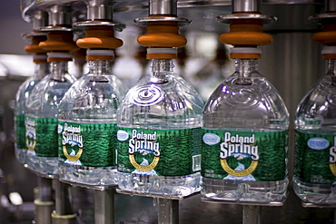
POLYGON ((118 172, 118 186, 124 193, 132 195, 183 199, 201 190, 200 178, 200 173, 161 177, 118 172))

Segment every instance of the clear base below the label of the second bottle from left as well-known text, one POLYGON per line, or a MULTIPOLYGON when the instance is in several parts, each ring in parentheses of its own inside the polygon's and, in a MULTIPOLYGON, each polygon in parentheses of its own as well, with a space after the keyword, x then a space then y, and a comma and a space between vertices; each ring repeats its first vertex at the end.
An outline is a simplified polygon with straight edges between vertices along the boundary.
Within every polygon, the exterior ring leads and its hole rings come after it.
POLYGON ((58 175, 58 157, 40 157, 35 152, 27 151, 26 167, 37 175, 54 179, 58 175))

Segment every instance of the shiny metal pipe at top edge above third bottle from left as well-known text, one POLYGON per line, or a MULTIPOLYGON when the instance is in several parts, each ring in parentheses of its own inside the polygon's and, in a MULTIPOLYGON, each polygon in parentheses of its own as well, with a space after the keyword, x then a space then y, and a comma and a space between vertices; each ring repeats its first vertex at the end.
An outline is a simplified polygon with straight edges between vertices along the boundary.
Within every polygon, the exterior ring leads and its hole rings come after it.
POLYGON ((87 19, 113 20, 114 0, 93 0, 87 5, 87 19))

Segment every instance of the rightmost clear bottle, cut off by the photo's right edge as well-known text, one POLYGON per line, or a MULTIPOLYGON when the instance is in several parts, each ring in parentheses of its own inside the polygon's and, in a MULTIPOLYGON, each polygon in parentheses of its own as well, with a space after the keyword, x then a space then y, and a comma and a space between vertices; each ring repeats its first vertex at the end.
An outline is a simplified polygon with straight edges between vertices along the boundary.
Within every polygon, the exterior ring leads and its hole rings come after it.
POLYGON ((293 188, 305 203, 336 203, 336 76, 328 73, 302 98, 295 113, 293 188))

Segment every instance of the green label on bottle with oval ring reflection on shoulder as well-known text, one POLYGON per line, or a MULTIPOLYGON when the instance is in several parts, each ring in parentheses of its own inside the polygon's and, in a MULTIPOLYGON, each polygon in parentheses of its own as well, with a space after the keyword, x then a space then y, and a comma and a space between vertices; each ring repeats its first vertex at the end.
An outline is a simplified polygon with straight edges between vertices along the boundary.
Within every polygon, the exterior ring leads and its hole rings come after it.
POLYGON ((118 128, 118 170, 151 176, 183 176, 201 170, 201 128, 118 128))

